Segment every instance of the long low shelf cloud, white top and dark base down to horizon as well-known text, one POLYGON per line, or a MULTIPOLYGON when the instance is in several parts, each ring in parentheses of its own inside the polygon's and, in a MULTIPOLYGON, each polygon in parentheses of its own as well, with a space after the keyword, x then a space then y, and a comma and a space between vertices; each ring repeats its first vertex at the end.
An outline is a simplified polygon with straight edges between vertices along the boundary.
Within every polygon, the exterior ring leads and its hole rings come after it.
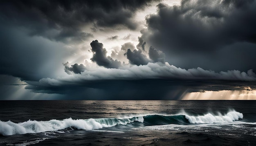
POLYGON ((72 95, 77 99, 86 95, 86 99, 175 100, 190 92, 256 90, 255 81, 252 70, 216 73, 201 68, 181 69, 168 63, 148 63, 119 69, 91 68, 81 74, 27 82, 26 88, 36 93, 64 94, 67 98, 72 95))

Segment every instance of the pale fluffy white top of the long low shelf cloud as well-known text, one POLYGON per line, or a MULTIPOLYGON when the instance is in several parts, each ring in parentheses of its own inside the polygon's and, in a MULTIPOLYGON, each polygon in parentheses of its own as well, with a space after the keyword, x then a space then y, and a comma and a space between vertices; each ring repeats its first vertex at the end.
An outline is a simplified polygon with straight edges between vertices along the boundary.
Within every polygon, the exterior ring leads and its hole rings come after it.
MULTIPOLYGON (((72 78, 72 77, 71 77, 72 78)), ((146 65, 126 65, 121 66, 119 69, 96 68, 88 69, 76 75, 73 81, 81 80, 135 80, 135 79, 182 79, 182 80, 233 80, 233 81, 256 81, 256 75, 252 70, 240 72, 221 71, 207 71, 200 67, 196 69, 181 69, 176 66, 170 65, 167 62, 162 63, 148 63, 146 65)), ((68 78, 61 79, 63 81, 69 80, 68 78)))

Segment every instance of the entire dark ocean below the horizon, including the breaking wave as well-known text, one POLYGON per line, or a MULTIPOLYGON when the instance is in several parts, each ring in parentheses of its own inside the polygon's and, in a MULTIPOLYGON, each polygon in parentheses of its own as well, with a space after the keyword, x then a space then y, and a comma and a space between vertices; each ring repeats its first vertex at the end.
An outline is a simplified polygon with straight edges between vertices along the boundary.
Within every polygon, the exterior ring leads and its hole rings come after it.
POLYGON ((256 146, 256 101, 0 101, 0 145, 256 146))

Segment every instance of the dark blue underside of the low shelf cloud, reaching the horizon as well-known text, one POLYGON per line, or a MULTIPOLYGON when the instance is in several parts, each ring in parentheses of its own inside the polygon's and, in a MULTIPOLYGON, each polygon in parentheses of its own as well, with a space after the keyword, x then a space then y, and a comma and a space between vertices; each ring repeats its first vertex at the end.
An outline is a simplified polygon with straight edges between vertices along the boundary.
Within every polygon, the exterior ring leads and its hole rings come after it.
POLYGON ((98 80, 88 81, 78 86, 42 86, 41 84, 34 84, 26 88, 36 93, 65 94, 66 99, 144 100, 145 97, 148 100, 177 99, 185 88, 177 91, 174 90, 176 87, 170 86, 172 82, 168 83, 164 80, 98 80), (176 92, 178 92, 178 95, 175 94, 177 96, 167 96, 168 93, 176 92))

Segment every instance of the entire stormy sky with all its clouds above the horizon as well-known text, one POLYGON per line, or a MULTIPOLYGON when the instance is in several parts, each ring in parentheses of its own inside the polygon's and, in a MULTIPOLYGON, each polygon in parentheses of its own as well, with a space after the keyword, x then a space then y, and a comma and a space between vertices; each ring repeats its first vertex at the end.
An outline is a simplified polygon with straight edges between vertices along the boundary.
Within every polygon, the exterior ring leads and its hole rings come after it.
POLYGON ((2 0, 0 100, 256 100, 255 8, 2 0))

